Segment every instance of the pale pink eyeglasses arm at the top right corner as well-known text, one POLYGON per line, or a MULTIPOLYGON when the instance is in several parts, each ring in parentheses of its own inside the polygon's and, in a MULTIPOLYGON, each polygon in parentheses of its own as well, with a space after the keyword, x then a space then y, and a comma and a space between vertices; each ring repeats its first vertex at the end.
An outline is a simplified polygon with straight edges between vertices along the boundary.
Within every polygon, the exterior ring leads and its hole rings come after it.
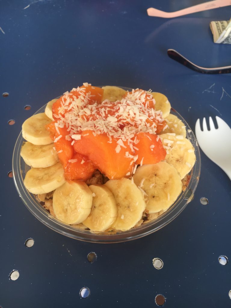
POLYGON ((206 11, 216 9, 217 7, 228 6, 231 5, 231 0, 215 0, 209 1, 201 4, 197 4, 194 6, 187 7, 183 10, 175 11, 175 12, 164 12, 161 10, 154 9, 150 7, 147 12, 149 16, 162 17, 162 18, 173 18, 182 15, 187 15, 191 13, 206 11))

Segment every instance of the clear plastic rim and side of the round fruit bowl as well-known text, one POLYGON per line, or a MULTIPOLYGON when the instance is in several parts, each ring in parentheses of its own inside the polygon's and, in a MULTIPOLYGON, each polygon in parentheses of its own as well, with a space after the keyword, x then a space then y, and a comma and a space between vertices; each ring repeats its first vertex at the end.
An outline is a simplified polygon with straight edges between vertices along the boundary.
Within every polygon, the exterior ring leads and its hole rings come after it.
MULTIPOLYGON (((122 87, 125 90, 131 91, 130 88, 122 87)), ((46 105, 41 107, 35 114, 44 112, 46 105)), ((27 166, 20 156, 20 151, 24 139, 22 138, 22 132, 20 132, 18 139, 14 146, 13 152, 13 177, 14 184, 17 188, 18 194, 21 197, 22 201, 29 209, 29 211, 44 225, 55 230, 63 235, 68 237, 72 237, 81 241, 87 242, 96 242, 96 243, 117 243, 134 240, 139 237, 143 237, 145 235, 151 234, 160 228, 163 228, 169 222, 171 222, 174 218, 176 218, 186 207, 186 205, 193 200, 194 192, 197 188, 197 184, 200 177, 201 172, 201 156, 199 147, 197 144, 197 140, 193 134, 193 131, 188 126, 186 121, 181 117, 181 115, 176 112, 173 108, 171 109, 171 113, 176 115, 186 126, 186 134, 187 138, 193 144, 195 148, 196 154, 196 162, 193 166, 193 169, 189 173, 191 176, 190 181, 188 183, 185 191, 180 194, 177 198, 176 202, 162 215, 160 215, 157 219, 148 222, 147 224, 143 224, 139 227, 130 229, 128 231, 113 231, 113 232, 93 232, 91 230, 85 229, 77 229, 71 225, 66 225, 63 222, 59 221, 55 217, 53 217, 46 209, 40 205, 40 203, 36 200, 35 196, 27 191, 23 184, 23 180, 25 178, 26 172, 30 169, 27 166)))

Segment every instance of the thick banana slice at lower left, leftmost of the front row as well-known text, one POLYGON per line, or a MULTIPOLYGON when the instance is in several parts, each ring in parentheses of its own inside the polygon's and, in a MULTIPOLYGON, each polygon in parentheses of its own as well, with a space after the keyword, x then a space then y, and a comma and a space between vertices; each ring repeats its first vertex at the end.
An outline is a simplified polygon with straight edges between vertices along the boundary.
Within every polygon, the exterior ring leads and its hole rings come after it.
POLYGON ((91 213, 92 192, 83 181, 67 181, 53 194, 55 217, 64 223, 80 224, 91 213))

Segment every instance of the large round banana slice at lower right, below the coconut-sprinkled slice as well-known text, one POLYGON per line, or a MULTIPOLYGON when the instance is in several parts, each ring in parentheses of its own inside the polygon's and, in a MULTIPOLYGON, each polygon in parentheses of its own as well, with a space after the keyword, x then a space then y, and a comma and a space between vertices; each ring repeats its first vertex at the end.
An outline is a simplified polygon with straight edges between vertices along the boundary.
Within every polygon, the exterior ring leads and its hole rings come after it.
POLYGON ((182 191, 179 173, 164 161, 138 167, 133 179, 145 192, 146 213, 167 210, 182 191))

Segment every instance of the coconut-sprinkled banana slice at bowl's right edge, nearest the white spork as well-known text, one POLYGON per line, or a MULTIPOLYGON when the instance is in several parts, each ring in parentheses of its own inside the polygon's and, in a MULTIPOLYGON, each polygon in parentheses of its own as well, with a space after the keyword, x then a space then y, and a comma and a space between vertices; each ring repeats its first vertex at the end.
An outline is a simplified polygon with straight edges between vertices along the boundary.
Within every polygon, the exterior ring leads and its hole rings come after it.
POLYGON ((180 178, 183 179, 193 168, 196 161, 193 145, 182 135, 161 134, 159 136, 167 151, 165 161, 174 166, 180 173, 180 178))

